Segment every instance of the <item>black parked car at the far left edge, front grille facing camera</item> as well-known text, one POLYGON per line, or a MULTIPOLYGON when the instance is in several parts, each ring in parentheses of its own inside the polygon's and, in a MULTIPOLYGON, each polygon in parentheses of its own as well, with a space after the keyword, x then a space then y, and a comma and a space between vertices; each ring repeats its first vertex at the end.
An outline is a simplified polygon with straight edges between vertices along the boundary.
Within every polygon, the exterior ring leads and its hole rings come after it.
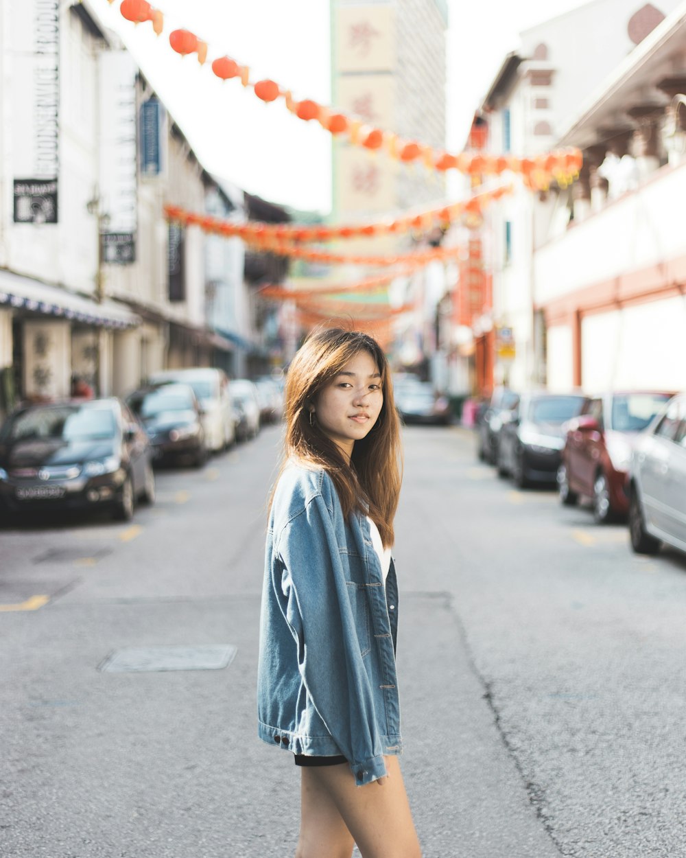
POLYGON ((0 429, 0 498, 10 511, 110 509, 129 520, 155 499, 146 433, 115 398, 30 405, 0 429))

